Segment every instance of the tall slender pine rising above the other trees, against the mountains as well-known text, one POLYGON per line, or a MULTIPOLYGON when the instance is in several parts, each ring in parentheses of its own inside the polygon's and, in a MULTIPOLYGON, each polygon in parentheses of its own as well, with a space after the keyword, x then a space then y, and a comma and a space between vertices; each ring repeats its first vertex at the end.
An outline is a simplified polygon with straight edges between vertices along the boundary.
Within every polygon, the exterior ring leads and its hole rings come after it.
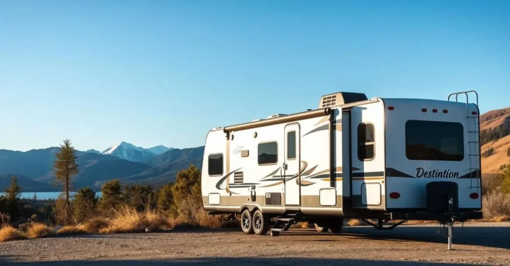
POLYGON ((55 154, 56 160, 53 165, 54 173, 56 176, 55 181, 62 186, 62 197, 61 204, 59 204, 59 208, 64 208, 64 210, 59 210, 59 213, 63 215, 62 219, 70 223, 71 221, 71 202, 70 202, 70 192, 73 189, 72 186, 72 176, 77 175, 79 173, 78 164, 77 164, 77 155, 74 147, 71 146, 71 141, 69 139, 65 139, 64 143, 60 145, 60 151, 55 154))

